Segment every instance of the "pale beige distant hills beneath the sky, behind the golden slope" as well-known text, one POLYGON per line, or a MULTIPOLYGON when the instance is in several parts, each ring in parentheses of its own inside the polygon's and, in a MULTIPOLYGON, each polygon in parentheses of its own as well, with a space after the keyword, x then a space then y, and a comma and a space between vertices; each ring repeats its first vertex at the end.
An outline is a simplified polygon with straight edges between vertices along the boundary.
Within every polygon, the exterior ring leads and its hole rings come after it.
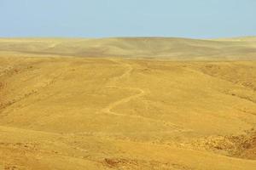
POLYGON ((0 51, 84 57, 168 59, 254 59, 256 38, 196 40, 186 38, 0 39, 0 51))

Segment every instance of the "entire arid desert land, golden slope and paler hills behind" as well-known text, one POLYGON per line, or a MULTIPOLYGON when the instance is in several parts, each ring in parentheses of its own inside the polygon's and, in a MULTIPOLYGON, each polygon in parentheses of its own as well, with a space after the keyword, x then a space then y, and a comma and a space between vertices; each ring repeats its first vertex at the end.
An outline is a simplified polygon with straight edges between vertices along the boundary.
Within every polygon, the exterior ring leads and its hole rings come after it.
POLYGON ((0 169, 256 169, 256 37, 0 39, 0 169))

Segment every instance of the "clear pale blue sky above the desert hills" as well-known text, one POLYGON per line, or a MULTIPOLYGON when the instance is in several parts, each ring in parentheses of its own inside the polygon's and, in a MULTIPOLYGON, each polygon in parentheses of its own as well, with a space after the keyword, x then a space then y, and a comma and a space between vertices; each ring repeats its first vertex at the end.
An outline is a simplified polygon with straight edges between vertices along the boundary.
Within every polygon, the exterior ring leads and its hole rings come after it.
POLYGON ((0 0, 0 37, 256 35, 256 0, 0 0))

